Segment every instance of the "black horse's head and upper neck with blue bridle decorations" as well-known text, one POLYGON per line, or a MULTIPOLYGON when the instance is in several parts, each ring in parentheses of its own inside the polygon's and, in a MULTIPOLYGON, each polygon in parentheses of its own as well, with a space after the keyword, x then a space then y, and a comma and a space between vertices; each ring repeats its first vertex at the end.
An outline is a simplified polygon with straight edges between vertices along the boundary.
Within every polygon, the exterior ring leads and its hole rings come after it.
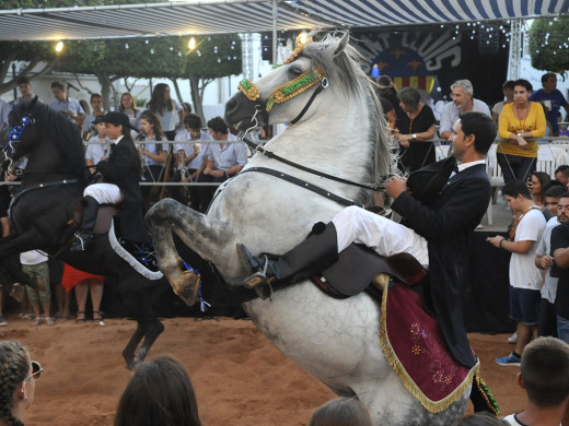
POLYGON ((11 126, 4 138, 4 154, 13 161, 38 152, 35 164, 54 166, 69 177, 84 174, 84 146, 81 131, 67 116, 49 108, 37 96, 14 102, 9 115, 11 126), (39 150, 40 149, 40 150, 39 150))

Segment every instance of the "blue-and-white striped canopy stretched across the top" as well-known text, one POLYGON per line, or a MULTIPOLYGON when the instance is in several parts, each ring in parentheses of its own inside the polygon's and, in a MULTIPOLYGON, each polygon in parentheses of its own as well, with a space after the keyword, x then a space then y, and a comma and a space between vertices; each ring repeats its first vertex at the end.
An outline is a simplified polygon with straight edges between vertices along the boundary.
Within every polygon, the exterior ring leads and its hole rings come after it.
MULTIPOLYGON (((527 19, 568 12, 567 0, 276 1, 277 29, 527 19)), ((271 0, 188 0, 0 10, 0 40, 59 40, 274 31, 271 0)))

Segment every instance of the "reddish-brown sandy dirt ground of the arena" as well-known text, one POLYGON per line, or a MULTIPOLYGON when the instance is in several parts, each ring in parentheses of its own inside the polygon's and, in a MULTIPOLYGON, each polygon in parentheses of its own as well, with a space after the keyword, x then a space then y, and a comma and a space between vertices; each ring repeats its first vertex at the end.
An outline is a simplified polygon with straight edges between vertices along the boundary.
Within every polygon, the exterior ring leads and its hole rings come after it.
MULTIPOLYGON (((100 327, 74 320, 31 328, 9 318, 0 339, 18 340, 45 371, 26 413, 26 426, 108 426, 130 371, 121 352, 135 322, 107 319, 100 327)), ((204 426, 306 425, 315 407, 334 398, 328 388, 287 359, 248 320, 163 320, 165 331, 149 358, 173 354, 188 368, 204 426)), ((503 414, 522 410, 525 395, 518 367, 493 358, 512 350, 506 334, 471 334, 481 359, 481 377, 503 414)), ((467 413, 472 412, 472 406, 467 413)))

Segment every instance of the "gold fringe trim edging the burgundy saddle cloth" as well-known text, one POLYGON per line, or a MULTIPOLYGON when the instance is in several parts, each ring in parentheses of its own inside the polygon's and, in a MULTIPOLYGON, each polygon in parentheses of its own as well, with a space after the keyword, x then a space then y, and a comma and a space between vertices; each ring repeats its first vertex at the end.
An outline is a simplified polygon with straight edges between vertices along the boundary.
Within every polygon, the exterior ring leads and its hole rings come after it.
POLYGON ((480 362, 478 360, 476 365, 471 369, 468 376, 464 379, 464 381, 449 394, 440 401, 431 401, 429 398, 422 393, 419 387, 415 383, 415 381, 410 378, 407 370, 400 363, 399 358, 395 354, 393 346, 391 345, 390 339, 387 338, 387 329, 386 329, 386 305, 387 305, 387 287, 385 286, 383 291, 383 297, 381 303, 381 331, 380 331, 380 344, 383 351, 383 355, 387 363, 392 366, 392 368, 397 372, 397 376, 403 381, 403 386, 431 413, 440 413, 441 411, 446 410, 453 403, 455 403, 462 394, 468 389, 468 387, 473 383, 473 378, 478 372, 480 368, 480 362))

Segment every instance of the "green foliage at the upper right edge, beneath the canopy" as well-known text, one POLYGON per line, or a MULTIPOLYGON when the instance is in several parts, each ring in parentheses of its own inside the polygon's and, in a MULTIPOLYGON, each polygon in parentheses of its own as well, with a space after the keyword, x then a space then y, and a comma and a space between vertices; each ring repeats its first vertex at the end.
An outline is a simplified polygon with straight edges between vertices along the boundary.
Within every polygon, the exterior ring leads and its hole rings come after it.
POLYGON ((534 20, 530 29, 532 67, 565 75, 569 69, 569 16, 534 20))

